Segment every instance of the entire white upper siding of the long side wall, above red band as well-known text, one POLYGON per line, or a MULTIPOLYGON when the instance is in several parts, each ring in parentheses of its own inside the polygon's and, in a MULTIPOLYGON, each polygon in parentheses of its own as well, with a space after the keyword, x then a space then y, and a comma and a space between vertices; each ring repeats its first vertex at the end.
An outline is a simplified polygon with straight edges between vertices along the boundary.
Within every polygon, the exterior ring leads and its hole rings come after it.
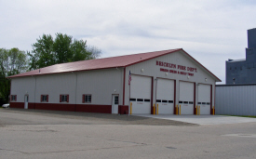
POLYGON ((122 105, 123 70, 118 68, 13 78, 11 94, 17 95, 17 102, 24 102, 24 96, 28 94, 29 102, 39 103, 41 95, 48 95, 47 103, 60 103, 60 95, 68 94, 69 104, 100 105, 111 105, 112 94, 118 94, 119 105, 122 105), (83 94, 91 94, 91 103, 82 103, 83 94))

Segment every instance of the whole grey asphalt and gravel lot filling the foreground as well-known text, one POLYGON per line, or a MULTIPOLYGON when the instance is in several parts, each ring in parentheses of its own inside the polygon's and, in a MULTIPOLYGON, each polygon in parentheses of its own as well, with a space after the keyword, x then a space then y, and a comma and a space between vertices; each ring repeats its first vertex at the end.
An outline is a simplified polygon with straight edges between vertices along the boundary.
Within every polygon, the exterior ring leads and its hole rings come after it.
POLYGON ((256 158, 255 132, 253 121, 0 109, 0 158, 256 158))

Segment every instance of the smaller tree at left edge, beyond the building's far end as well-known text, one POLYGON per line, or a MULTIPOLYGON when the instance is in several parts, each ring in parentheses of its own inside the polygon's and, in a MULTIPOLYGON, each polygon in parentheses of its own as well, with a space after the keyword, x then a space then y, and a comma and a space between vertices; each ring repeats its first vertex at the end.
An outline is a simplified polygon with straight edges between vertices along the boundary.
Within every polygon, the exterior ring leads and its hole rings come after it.
POLYGON ((0 95, 6 102, 10 93, 7 76, 24 73, 27 70, 27 55, 19 48, 0 48, 0 95))

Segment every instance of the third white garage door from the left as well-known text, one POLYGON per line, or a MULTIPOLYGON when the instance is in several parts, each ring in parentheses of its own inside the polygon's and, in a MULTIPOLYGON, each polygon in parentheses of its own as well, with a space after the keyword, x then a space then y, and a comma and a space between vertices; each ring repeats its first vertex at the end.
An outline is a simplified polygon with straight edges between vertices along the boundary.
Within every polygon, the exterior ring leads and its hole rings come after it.
POLYGON ((194 114, 194 83, 180 82, 181 114, 194 114))

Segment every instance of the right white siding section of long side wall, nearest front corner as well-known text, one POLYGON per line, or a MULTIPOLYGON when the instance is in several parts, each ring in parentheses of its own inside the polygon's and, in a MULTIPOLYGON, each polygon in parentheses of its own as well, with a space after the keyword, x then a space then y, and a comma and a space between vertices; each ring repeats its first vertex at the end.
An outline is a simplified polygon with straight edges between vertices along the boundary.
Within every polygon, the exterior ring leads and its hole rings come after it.
POLYGON ((82 94, 91 94, 88 104, 111 105, 112 94, 118 94, 119 105, 122 105, 123 76, 121 68, 77 73, 76 103, 82 104, 82 94))

